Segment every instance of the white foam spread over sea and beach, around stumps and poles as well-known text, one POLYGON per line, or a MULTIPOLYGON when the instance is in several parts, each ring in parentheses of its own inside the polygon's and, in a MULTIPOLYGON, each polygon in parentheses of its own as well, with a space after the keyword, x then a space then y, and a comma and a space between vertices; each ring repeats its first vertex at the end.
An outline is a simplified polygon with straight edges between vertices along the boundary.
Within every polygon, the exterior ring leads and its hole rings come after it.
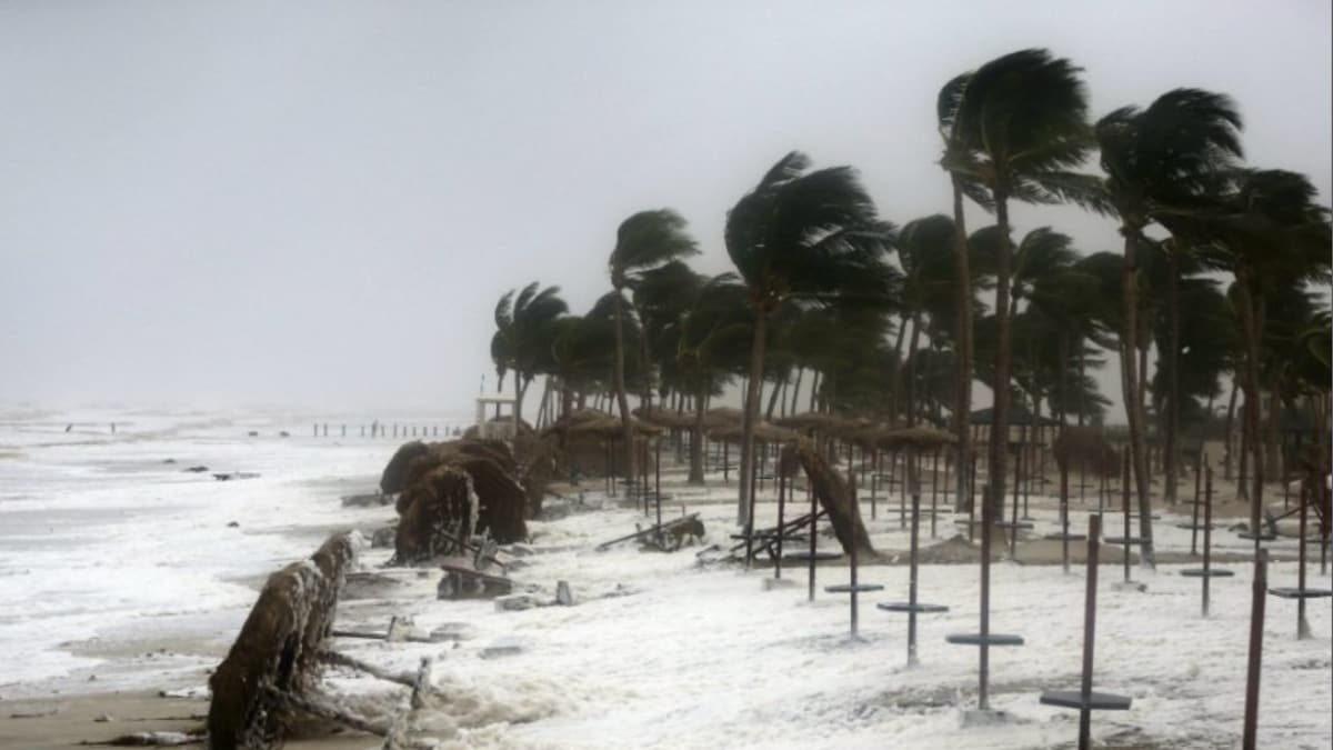
MULTIPOLYGON (((349 438, 339 446, 333 438, 251 439, 244 436, 248 428, 215 424, 169 439, 33 448, 21 460, 0 459, 0 472, 15 470, 3 475, 4 492, 24 495, 0 499, 0 683, 79 666, 59 643, 89 634, 141 633, 152 626, 165 637, 177 622, 191 622, 197 637, 229 645, 255 597, 244 579, 308 555, 323 530, 373 528, 392 518, 392 507, 343 508, 337 495, 371 490, 393 440, 365 444, 349 438), (167 455, 179 463, 160 466, 167 455), (211 467, 263 476, 215 482, 181 475, 179 470, 196 456, 211 467), (9 482, 13 476, 23 480, 9 482), (25 528, 7 536, 7 512, 25 528), (96 523, 80 523, 80 514, 96 523), (49 531, 37 528, 41 519, 49 531), (240 528, 228 528, 229 520, 240 528), (49 544, 40 543, 43 532, 52 534, 49 544), (11 538, 23 542, 11 548, 11 538), (15 605, 31 607, 32 614, 9 615, 15 605), (191 606, 199 607, 191 617, 165 614, 191 606), (35 659, 15 662, 20 654, 35 659)), ((293 435, 299 430, 292 427, 293 435)), ((700 512, 706 526, 705 542, 732 543, 733 496, 734 484, 714 482, 708 495, 689 500, 688 511, 700 512)), ((604 504, 596 491, 589 491, 588 503, 604 504)), ((1049 507, 1049 500, 1034 500, 1034 532, 1056 530, 1049 507)), ((678 512, 678 507, 665 510, 678 512)), ((765 502, 758 512, 761 523, 770 523, 776 508, 765 502)), ((1074 531, 1085 530, 1086 512, 1076 506, 1074 531)), ((1189 531, 1174 526, 1180 520, 1162 512, 1154 526, 1160 550, 1189 550, 1189 531)), ((672 554, 644 552, 635 544, 595 550, 599 542, 648 523, 644 514, 615 502, 529 523, 535 554, 512 578, 544 602, 555 598, 559 581, 567 581, 572 607, 497 611, 489 601, 441 602, 436 574, 407 575, 392 590, 392 601, 340 605, 340 626, 383 629, 389 614, 399 614, 411 615, 423 631, 464 622, 471 638, 457 646, 340 639, 337 647, 407 673, 423 657, 435 658, 439 698, 421 713, 417 729, 440 739, 441 747, 1000 750, 1073 742, 1077 714, 1041 706, 1038 697, 1042 690, 1078 685, 1081 566, 1064 575, 1060 566, 994 565, 992 627, 1021 634, 1028 643, 992 650, 992 705, 1008 718, 982 726, 964 721, 976 705, 976 649, 944 641, 949 633, 977 629, 976 565, 922 566, 921 599, 950 610, 920 618, 921 666, 908 669, 905 615, 874 609, 876 602, 905 598, 905 566, 862 567, 861 582, 885 590, 861 599, 864 642, 850 642, 846 599, 822 591, 825 585, 844 583, 846 567, 818 569, 818 593, 808 603, 802 569, 784 574, 796 582, 793 587, 765 591, 761 579, 770 570, 701 566, 694 556, 698 547, 672 554), (485 658, 487 646, 501 639, 524 647, 485 658)), ((1108 522, 1113 531, 1118 523, 1108 522)), ((890 556, 906 547, 897 496, 881 498, 878 518, 868 527, 874 546, 890 556)), ((957 532, 952 515, 940 519, 940 542, 957 532)), ((1213 540, 1218 550, 1249 548, 1222 530, 1213 540)), ((833 542, 821 538, 820 544, 833 542)), ((1281 539, 1273 547, 1290 551, 1294 542, 1281 539)), ((373 569, 388 555, 365 550, 363 565, 373 569)), ((1148 583, 1146 593, 1117 590, 1120 569, 1101 567, 1094 687, 1130 695, 1134 705, 1130 711, 1094 715, 1097 742, 1213 749, 1238 738, 1250 566, 1225 566, 1236 578, 1213 582, 1208 619, 1198 617, 1198 581, 1180 577, 1181 567, 1192 566, 1164 565, 1157 573, 1134 566, 1133 577, 1148 583)), ((1270 567, 1274 586, 1292 585, 1294 577, 1292 563, 1270 567)), ((1328 587, 1329 579, 1312 571, 1310 585, 1328 587)), ((1268 601, 1261 746, 1320 747, 1333 737, 1328 710, 1333 617, 1326 599, 1312 602, 1316 638, 1296 641, 1294 607, 1268 601)), ((137 679, 143 687, 163 686, 159 671, 144 669, 137 679)), ((189 685, 203 679, 193 674, 189 685)), ((381 707, 404 699, 401 687, 347 670, 335 670, 331 683, 381 707)), ((0 694, 12 690, 0 687, 0 694)))

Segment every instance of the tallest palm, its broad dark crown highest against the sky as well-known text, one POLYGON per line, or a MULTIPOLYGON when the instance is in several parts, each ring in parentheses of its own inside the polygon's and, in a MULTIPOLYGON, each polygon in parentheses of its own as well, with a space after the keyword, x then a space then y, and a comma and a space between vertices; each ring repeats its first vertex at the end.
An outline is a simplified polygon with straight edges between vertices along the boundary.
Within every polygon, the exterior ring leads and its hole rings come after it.
MULTIPOLYGON (((997 57, 965 73, 941 95, 941 121, 949 124, 944 167, 956 191, 982 192, 993 206, 1001 242, 996 258, 994 408, 990 424, 988 482, 992 502, 1005 490, 1009 438, 1010 275, 1009 200, 1057 203, 1076 200, 1101 208, 1092 181, 1070 172, 1092 145, 1088 103, 1080 68, 1045 49, 997 57)), ((957 202, 957 199, 956 199, 957 202)))

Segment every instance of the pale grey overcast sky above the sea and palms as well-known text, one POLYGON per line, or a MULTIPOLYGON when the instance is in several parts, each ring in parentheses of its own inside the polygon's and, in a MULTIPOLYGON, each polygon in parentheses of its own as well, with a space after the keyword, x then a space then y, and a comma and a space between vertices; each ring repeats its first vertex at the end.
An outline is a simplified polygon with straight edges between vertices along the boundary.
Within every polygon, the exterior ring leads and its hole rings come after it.
POLYGON ((1329 5, 0 3, 0 402, 467 408, 500 294, 581 312, 635 211, 724 271, 726 210, 793 148, 900 224, 949 211, 936 92, 1024 47, 1082 65, 1094 116, 1230 93, 1252 163, 1326 203, 1329 5))

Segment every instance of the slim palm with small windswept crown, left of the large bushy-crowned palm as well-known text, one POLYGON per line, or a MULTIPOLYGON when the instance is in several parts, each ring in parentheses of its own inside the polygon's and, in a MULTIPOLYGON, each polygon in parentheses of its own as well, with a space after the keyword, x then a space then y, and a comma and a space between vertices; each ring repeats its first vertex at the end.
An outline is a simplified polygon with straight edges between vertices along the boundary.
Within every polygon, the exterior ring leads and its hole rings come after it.
MULTIPOLYGON (((685 232, 685 219, 670 208, 640 211, 621 222, 616 232, 616 248, 611 251, 608 271, 616 295, 615 387, 624 431, 627 476, 635 475, 635 435, 629 423, 629 399, 625 398, 624 291, 636 275, 697 252, 698 246, 685 232)), ((641 363, 641 367, 647 366, 647 362, 641 363)))

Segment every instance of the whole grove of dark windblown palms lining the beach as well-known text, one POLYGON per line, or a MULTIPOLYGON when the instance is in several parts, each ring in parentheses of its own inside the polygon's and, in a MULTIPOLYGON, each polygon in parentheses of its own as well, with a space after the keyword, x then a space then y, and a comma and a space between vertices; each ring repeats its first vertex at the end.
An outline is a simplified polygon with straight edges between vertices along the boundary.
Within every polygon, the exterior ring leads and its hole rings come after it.
MULTIPOLYGON (((1329 418, 1329 211, 1309 179, 1246 164, 1224 93, 1177 88, 1093 121, 1081 69, 1045 49, 946 81, 936 124, 948 214, 893 223, 850 167, 788 153, 726 214, 734 272, 694 272, 684 218, 651 210, 620 224, 611 291, 585 314, 571 315, 557 287, 504 295, 492 340, 501 383, 513 374, 521 408, 544 376, 541 419, 613 404, 631 472, 631 398, 693 414, 689 480, 701 483, 702 415, 738 380, 745 498, 754 426, 802 408, 946 426, 968 466, 980 380, 993 407, 978 460, 998 506, 1014 408, 1100 422, 1109 402, 1089 370, 1116 358, 1145 563, 1149 444, 1170 502, 1181 435, 1213 428, 1218 412, 1257 526, 1284 416, 1329 418), (968 203, 986 226, 969 231, 968 203), (1014 203, 1104 216, 1118 248, 1085 254, 1057 228, 1021 232, 1014 203)), ((957 482, 969 496, 966 472, 957 482)))

